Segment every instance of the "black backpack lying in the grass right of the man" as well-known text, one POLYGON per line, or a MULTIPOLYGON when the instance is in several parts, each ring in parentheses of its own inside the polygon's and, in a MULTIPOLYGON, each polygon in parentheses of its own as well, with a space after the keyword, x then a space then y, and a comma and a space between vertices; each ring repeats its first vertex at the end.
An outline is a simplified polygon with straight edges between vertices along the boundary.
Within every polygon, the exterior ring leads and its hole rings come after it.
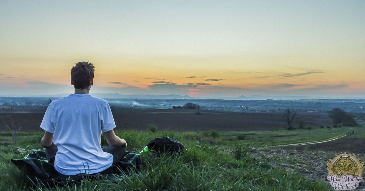
POLYGON ((147 144, 149 151, 168 152, 170 154, 185 151, 183 144, 169 137, 154 138, 147 144))

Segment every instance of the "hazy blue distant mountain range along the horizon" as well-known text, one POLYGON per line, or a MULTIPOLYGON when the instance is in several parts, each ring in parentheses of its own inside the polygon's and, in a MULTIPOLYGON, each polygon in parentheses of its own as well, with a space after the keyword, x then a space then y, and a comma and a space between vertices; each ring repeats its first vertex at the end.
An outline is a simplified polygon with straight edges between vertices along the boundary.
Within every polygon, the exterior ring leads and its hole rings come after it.
MULTIPOLYGON (((63 98, 70 95, 70 93, 61 93, 57 95, 0 95, 0 97, 48 97, 48 98, 63 98)), ((263 96, 263 95, 251 95, 229 98, 229 97, 205 97, 197 98, 188 95, 144 95, 144 94, 134 94, 134 95, 123 95, 119 93, 90 93, 90 95, 97 98, 104 99, 226 99, 226 100, 311 100, 311 99, 365 99, 365 97, 310 97, 310 96, 263 96)))

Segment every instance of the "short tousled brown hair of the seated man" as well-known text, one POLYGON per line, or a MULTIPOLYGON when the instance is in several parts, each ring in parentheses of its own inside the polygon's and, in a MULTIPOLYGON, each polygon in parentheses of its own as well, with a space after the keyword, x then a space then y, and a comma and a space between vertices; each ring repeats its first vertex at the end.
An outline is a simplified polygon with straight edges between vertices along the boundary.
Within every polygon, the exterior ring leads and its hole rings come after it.
POLYGON ((91 62, 78 62, 71 68, 71 79, 76 89, 84 89, 94 78, 95 67, 91 62))

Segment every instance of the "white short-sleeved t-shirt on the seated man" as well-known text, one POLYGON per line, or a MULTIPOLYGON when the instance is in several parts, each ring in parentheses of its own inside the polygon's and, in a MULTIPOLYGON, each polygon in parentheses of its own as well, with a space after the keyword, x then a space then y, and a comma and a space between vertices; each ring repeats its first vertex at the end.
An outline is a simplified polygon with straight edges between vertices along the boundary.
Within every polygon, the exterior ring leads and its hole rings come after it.
POLYGON ((93 174, 112 166, 113 155, 100 146, 101 131, 115 128, 107 101, 88 94, 53 100, 41 128, 53 134, 58 152, 54 168, 61 174, 93 174))

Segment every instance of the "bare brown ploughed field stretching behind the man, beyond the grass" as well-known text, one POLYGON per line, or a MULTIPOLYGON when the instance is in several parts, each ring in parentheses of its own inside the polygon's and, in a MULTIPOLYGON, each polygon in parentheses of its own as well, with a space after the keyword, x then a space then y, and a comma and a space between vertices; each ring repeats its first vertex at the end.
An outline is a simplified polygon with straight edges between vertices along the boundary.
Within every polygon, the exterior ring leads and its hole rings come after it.
MULTIPOLYGON (((46 107, 15 107, 14 116, 25 119, 22 131, 41 131, 46 107)), ((4 117, 5 114, 0 114, 4 117)), ((238 113, 189 109, 140 109, 130 111, 113 111, 117 128, 128 130, 146 130, 149 123, 153 123, 158 130, 172 128, 175 131, 201 131, 203 128, 217 131, 252 131, 272 130, 287 126, 281 119, 282 113, 238 113), (200 112, 201 115, 195 114, 200 112)), ((302 119, 308 126, 331 125, 327 114, 298 113, 296 120, 302 119)), ((0 123, 0 131, 7 131, 0 123)))

